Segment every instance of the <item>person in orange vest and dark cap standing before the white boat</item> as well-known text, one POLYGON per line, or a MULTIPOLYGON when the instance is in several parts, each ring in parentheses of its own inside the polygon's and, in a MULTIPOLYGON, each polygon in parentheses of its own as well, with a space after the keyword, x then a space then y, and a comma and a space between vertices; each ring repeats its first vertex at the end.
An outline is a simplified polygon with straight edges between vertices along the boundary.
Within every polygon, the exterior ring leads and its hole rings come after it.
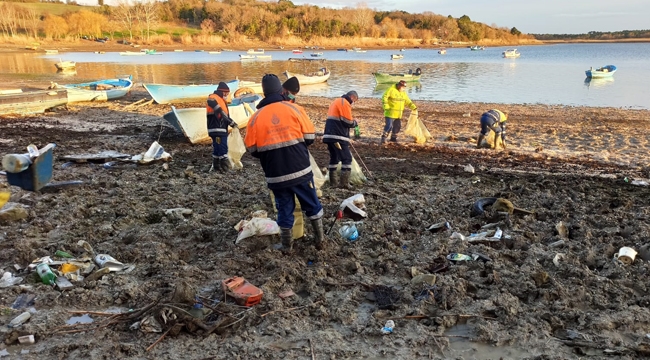
POLYGON ((228 159, 228 126, 238 127, 230 118, 226 98, 230 88, 225 82, 217 85, 217 90, 208 96, 206 113, 208 119, 208 135, 212 139, 212 167, 210 171, 226 172, 230 169, 228 159))

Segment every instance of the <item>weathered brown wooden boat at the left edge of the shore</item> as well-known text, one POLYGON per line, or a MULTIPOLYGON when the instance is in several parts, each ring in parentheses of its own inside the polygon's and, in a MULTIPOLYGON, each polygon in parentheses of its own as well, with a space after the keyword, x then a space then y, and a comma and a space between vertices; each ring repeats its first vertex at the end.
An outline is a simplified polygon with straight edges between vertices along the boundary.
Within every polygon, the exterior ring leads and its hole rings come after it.
POLYGON ((0 95, 0 115, 37 114, 67 103, 67 89, 36 90, 0 95))

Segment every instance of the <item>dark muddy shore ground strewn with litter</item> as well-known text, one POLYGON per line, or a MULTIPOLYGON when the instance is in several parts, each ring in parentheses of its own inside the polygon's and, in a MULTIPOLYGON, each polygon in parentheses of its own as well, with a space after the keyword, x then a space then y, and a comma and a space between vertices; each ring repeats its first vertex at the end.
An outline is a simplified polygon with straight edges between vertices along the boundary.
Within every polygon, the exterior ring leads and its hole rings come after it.
MULTIPOLYGON (((433 138, 415 145, 403 136, 400 144, 378 146, 379 100, 362 99, 354 111, 363 138, 354 143, 354 155, 372 172, 366 174, 370 181, 350 191, 325 185, 321 198, 329 228, 342 200, 364 194, 368 218, 360 237, 343 242, 334 230, 327 248, 317 251, 308 226, 295 252, 285 255, 269 246, 277 237, 234 244, 233 227, 241 219, 256 210, 274 216, 257 160, 244 155, 243 170, 208 173, 210 146, 191 145, 167 126, 160 116, 168 106, 126 107, 145 95, 138 89, 117 102, 0 119, 0 154, 54 142, 53 181, 84 182, 42 193, 11 188, 11 201, 28 216, 0 223, 0 265, 24 280, 0 293, 0 356, 632 359, 650 354, 650 253, 643 247, 650 233, 650 191, 632 185, 650 177, 650 112, 418 103, 433 138), (494 107, 510 113, 508 149, 475 149, 479 115, 494 107), (167 165, 63 166, 61 159, 104 150, 139 154, 153 141, 172 155, 167 165), (505 216, 488 208, 470 217, 472 204, 484 197, 508 199, 534 213, 505 216), (192 213, 165 214, 173 208, 192 213), (441 221, 451 230, 426 230, 441 221), (506 235, 500 241, 451 237, 493 223, 506 235), (81 256, 86 250, 80 240, 135 268, 63 292, 14 268, 57 250, 81 256), (564 243, 556 246, 560 240, 564 243), (640 252, 631 265, 612 260, 623 246, 640 252), (445 259, 450 253, 482 254, 490 261, 452 263, 445 259), (435 279, 413 281, 418 274, 435 279), (259 305, 241 308, 224 301, 220 282, 235 275, 264 291, 259 305), (295 295, 282 298, 286 290, 295 295), (380 309, 386 291, 393 293, 393 304, 380 309), (8 328, 25 311, 11 308, 21 295, 35 296, 26 306, 33 314, 22 326, 8 328), (202 320, 188 315, 195 299, 212 309, 202 320), (80 315, 72 311, 79 310, 92 312, 94 322, 69 325, 80 315), (140 329, 130 328, 143 319, 140 329), (155 328, 153 319, 161 332, 146 332, 155 328), (388 319, 395 322, 394 332, 382 335, 388 319), (19 345, 18 336, 29 334, 35 344, 19 345)), ((330 101, 299 98, 317 129, 323 128, 330 101)), ((322 143, 311 152, 321 167, 327 164, 322 143)))

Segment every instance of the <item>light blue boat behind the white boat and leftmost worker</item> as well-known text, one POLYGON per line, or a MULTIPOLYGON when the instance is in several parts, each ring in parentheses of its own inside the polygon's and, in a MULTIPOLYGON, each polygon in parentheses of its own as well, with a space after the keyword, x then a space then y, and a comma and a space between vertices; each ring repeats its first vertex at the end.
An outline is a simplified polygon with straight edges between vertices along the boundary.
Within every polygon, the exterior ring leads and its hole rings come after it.
MULTIPOLYGON (((227 82, 230 93, 234 94, 239 89, 239 80, 227 82)), ((169 104, 171 102, 185 102, 196 99, 205 99, 216 89, 216 84, 203 85, 166 85, 166 84, 143 84, 151 97, 158 104, 169 104)))

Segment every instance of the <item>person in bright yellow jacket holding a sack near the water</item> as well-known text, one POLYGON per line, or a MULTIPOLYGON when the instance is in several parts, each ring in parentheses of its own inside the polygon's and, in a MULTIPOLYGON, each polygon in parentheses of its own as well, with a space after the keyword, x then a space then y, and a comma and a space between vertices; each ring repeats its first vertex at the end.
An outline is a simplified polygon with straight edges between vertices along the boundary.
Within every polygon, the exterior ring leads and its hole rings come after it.
POLYGON ((406 81, 401 80, 397 84, 389 87, 381 97, 386 118, 384 133, 381 135, 381 143, 386 142, 386 137, 390 136, 390 141, 397 142, 397 134, 402 128, 402 113, 404 107, 408 106, 411 110, 416 111, 418 108, 406 95, 406 81))

